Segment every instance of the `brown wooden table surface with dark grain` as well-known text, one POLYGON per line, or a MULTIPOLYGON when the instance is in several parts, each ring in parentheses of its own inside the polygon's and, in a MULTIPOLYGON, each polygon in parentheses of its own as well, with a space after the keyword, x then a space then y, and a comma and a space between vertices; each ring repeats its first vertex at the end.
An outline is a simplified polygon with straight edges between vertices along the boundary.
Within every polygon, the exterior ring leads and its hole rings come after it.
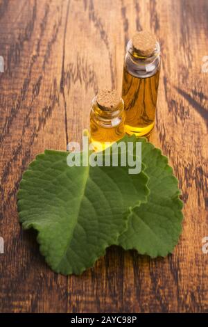
POLYGON ((0 0, 1 312, 208 312, 207 17, 207 0, 0 0), (114 246, 64 277, 19 225, 19 181, 37 153, 80 141, 98 88, 121 90, 125 43, 141 29, 162 46, 150 141, 179 179, 183 233, 166 258, 114 246))

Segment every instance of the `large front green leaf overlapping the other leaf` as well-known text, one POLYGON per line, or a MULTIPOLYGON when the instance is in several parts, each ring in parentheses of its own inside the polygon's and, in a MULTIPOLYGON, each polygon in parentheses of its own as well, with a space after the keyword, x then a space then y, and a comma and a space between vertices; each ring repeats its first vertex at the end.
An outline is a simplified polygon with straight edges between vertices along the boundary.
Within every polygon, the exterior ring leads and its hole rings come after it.
POLYGON ((143 172, 129 175, 128 166, 69 167, 68 154, 38 155, 18 192, 23 227, 37 230, 46 262, 65 275, 93 266, 126 229, 128 207, 148 196, 143 172))

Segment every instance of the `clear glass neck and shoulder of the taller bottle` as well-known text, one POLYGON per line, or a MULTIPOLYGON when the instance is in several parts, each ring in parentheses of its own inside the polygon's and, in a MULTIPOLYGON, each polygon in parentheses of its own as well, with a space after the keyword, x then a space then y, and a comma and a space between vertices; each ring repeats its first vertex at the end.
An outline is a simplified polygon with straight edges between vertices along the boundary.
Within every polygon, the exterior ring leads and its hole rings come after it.
POLYGON ((156 74, 160 66, 160 47, 155 43, 155 50, 150 56, 141 56, 133 45, 128 42, 125 54, 125 69, 134 77, 146 78, 156 74))

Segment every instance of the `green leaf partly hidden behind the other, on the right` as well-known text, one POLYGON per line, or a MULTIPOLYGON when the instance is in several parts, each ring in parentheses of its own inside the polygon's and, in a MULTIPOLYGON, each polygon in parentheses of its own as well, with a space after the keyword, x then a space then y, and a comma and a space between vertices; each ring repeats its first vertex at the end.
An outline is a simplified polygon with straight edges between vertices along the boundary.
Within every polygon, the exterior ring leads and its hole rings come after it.
POLYGON ((129 137, 142 142, 142 162, 148 175, 148 202, 130 208, 128 230, 119 237, 124 249, 135 248, 150 257, 166 256, 173 252, 182 231, 182 201, 173 170, 167 157, 145 138, 129 137))

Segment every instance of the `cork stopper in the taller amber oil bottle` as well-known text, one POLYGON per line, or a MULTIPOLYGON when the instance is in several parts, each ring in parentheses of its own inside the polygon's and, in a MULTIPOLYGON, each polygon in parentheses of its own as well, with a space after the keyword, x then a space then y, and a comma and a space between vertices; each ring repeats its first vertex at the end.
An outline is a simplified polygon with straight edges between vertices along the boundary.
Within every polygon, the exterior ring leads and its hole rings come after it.
POLYGON ((155 50, 156 38, 149 31, 140 31, 132 37, 132 45, 141 56, 150 56, 155 50))

